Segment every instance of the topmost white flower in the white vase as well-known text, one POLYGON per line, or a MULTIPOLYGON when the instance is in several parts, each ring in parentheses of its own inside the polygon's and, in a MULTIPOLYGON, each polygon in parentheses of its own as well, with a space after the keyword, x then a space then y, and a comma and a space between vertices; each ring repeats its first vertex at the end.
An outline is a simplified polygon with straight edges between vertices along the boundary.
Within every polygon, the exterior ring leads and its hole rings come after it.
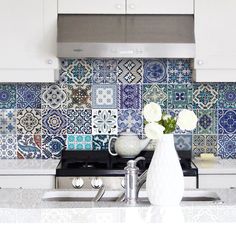
POLYGON ((148 122, 161 120, 162 113, 160 105, 154 102, 147 104, 143 109, 143 115, 148 122))

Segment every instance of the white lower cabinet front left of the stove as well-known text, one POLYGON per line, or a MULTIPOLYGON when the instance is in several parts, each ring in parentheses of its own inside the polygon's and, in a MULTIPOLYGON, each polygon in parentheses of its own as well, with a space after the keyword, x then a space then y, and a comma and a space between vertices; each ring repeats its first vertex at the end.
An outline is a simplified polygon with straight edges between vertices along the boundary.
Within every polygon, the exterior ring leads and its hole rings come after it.
POLYGON ((0 175, 0 188, 54 189, 54 175, 0 175))

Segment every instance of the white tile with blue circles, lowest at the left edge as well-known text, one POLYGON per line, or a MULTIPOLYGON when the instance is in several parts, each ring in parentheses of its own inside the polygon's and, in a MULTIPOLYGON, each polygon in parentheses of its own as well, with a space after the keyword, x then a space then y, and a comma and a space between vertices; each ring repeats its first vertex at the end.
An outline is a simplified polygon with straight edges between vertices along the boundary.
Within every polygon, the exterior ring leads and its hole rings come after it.
POLYGON ((16 158, 16 136, 0 135, 0 159, 16 158))

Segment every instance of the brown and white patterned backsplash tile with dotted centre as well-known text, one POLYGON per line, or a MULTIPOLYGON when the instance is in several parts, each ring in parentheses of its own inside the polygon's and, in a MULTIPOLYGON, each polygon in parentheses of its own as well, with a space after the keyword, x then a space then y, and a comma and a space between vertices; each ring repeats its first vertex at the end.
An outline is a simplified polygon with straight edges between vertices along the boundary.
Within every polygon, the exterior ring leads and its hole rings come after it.
POLYGON ((91 85, 68 85, 68 108, 91 108, 91 85))

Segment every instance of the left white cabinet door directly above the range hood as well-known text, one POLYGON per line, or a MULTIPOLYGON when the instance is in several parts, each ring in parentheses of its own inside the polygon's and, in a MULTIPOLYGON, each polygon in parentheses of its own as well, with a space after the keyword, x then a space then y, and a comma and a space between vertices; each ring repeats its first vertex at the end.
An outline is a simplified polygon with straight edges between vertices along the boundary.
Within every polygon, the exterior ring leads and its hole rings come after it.
POLYGON ((125 14, 125 0, 58 0, 59 14, 125 14))

